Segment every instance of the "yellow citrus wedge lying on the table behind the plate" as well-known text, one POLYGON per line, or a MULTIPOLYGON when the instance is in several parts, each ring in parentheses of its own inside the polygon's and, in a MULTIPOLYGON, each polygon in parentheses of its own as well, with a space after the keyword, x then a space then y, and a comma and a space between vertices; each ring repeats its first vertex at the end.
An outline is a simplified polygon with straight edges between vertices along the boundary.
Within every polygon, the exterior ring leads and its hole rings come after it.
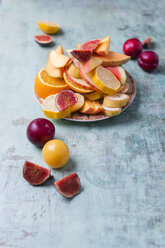
POLYGON ((37 23, 38 23, 39 29, 46 34, 54 34, 60 28, 58 24, 51 22, 51 21, 38 21, 37 23))

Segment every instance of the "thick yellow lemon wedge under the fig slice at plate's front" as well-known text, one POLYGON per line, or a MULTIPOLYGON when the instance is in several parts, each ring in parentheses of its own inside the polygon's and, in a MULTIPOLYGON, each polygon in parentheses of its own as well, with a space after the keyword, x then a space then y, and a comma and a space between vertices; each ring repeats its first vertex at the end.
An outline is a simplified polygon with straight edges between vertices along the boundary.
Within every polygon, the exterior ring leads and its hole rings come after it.
POLYGON ((61 119, 69 116, 72 112, 76 112, 81 109, 84 104, 84 97, 78 93, 75 94, 78 99, 77 103, 63 111, 59 111, 55 105, 57 94, 48 96, 41 105, 44 115, 50 119, 61 119))

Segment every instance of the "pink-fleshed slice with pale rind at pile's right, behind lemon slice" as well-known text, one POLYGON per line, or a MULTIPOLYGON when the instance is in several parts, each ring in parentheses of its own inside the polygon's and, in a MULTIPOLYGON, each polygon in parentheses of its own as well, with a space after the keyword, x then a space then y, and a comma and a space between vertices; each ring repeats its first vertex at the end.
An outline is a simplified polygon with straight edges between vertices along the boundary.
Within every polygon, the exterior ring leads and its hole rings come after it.
POLYGON ((111 71, 115 77, 120 81, 122 85, 124 85, 127 81, 127 74, 126 71, 122 66, 115 66, 115 67, 106 67, 107 70, 111 71))

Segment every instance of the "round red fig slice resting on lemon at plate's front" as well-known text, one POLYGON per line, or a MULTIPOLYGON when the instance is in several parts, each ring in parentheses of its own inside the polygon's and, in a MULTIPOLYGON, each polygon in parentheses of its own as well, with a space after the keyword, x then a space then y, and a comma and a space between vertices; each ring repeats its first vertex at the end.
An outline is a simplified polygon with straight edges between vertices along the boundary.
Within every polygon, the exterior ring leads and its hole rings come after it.
POLYGON ((56 106, 60 111, 64 111, 77 101, 77 96, 72 90, 62 90, 56 97, 56 106))

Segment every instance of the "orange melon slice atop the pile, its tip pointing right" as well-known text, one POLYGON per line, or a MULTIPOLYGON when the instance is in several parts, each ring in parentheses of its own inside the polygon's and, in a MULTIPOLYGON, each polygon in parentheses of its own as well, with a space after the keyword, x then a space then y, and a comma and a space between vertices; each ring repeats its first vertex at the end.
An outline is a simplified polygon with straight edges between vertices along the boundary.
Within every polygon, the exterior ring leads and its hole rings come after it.
POLYGON ((103 61, 102 66, 119 66, 127 63, 131 59, 130 56, 112 51, 109 51, 106 56, 99 56, 96 54, 93 56, 103 61))

